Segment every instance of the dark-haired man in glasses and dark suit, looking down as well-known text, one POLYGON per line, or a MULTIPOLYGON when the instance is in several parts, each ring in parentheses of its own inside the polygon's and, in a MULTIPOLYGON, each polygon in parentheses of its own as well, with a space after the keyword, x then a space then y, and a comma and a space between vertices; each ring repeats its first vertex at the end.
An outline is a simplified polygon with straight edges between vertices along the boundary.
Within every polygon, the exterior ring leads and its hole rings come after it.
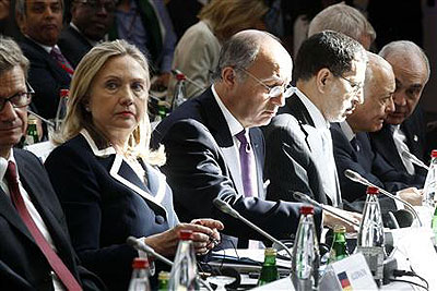
POLYGON ((322 32, 297 53, 296 93, 265 128, 268 198, 293 201, 291 192, 342 206, 329 122, 343 121, 363 102, 367 56, 352 38, 322 32))

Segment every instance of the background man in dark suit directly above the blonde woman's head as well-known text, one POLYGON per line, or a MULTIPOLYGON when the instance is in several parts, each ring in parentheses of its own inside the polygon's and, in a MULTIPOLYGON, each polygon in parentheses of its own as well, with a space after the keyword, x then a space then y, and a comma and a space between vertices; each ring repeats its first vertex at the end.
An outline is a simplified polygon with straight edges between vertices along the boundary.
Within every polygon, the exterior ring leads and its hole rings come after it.
POLYGON ((75 68, 83 56, 103 40, 114 22, 115 0, 82 0, 71 4, 71 23, 61 32, 58 46, 75 68))

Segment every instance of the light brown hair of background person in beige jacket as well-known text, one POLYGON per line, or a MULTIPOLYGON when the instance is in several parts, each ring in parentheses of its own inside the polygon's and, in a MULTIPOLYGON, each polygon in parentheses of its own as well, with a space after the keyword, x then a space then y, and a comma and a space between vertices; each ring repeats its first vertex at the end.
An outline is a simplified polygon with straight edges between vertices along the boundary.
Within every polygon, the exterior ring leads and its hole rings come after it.
POLYGON ((224 41, 240 31, 255 28, 268 11, 263 0, 212 0, 198 16, 209 21, 214 35, 224 41))

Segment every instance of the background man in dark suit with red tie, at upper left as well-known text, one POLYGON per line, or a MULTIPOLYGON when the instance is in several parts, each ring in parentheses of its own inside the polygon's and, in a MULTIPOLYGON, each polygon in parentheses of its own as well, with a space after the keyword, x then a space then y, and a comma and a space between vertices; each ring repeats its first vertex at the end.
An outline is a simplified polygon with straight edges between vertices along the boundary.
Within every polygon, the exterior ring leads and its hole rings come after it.
POLYGON ((25 35, 20 46, 31 61, 28 82, 35 89, 33 109, 56 117, 59 92, 70 87, 73 66, 56 45, 62 28, 63 1, 16 0, 15 14, 25 35))

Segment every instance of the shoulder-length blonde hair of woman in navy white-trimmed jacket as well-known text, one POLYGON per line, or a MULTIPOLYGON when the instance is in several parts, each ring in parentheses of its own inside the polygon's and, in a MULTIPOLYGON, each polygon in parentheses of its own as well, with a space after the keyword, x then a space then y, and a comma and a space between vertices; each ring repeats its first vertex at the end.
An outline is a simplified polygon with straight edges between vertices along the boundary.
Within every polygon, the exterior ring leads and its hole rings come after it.
MULTIPOLYGON (((109 146, 109 141, 93 123, 91 112, 86 111, 90 89, 94 77, 102 66, 111 58, 129 56, 133 58, 146 73, 146 90, 150 88, 149 64, 141 51, 125 40, 106 41, 94 47, 86 53, 74 71, 71 81, 66 119, 60 133, 55 136, 55 143, 61 144, 76 136, 82 129, 88 131, 97 147, 109 146)), ((165 162, 164 149, 150 150, 151 124, 147 114, 139 121, 128 138, 127 154, 141 157, 151 165, 161 166, 165 162)))

